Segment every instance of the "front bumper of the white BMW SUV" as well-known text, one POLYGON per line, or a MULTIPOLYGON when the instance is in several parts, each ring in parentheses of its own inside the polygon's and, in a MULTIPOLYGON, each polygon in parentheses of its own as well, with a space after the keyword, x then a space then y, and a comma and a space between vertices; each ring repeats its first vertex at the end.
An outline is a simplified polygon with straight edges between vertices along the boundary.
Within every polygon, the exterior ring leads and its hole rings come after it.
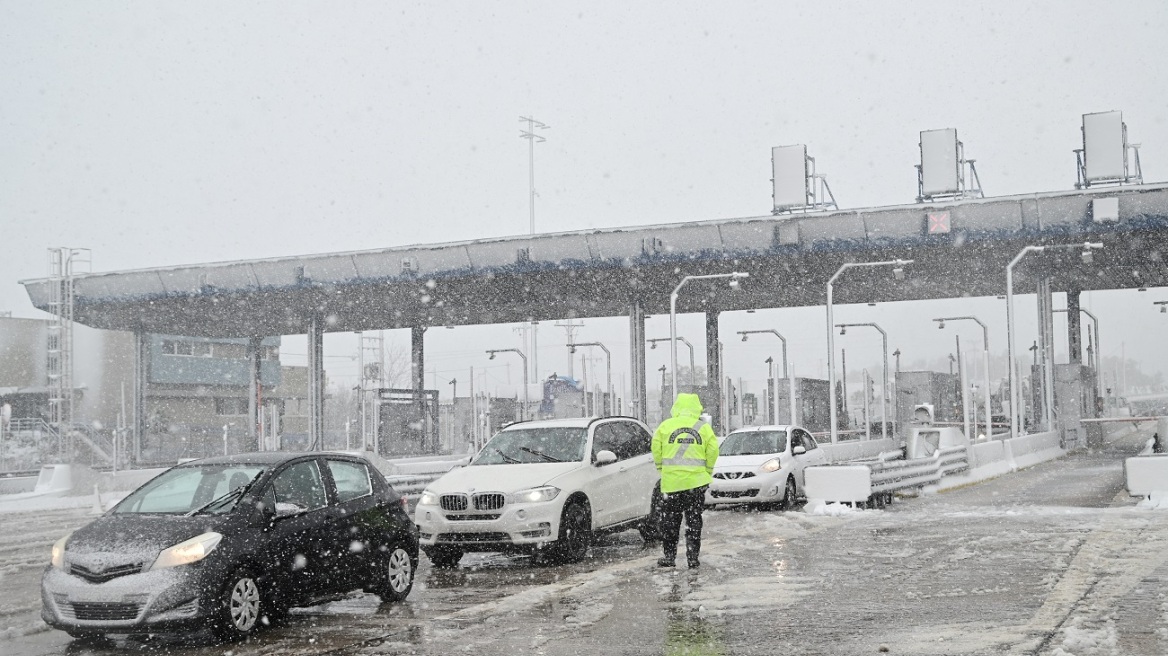
POLYGON ((562 509, 558 498, 545 503, 508 503, 491 512, 451 512, 438 505, 419 505, 415 521, 423 547, 524 551, 559 536, 562 509))

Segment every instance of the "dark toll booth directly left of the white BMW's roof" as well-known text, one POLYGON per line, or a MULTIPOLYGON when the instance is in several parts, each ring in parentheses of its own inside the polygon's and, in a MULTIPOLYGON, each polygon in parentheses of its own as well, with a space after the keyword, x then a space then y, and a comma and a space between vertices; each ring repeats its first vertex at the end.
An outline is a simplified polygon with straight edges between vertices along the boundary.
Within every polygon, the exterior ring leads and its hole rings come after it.
POLYGON ((377 390, 377 453, 384 458, 440 451, 438 390, 377 390))

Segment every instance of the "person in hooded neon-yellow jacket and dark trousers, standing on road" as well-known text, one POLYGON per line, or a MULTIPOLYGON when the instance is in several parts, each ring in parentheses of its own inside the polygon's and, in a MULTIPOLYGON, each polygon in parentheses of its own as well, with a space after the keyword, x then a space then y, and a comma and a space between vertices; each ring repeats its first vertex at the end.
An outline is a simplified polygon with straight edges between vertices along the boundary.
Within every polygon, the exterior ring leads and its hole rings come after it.
POLYGON ((697 395, 681 393, 673 404, 672 418, 653 433, 653 462, 661 473, 661 567, 673 567, 677 559, 681 516, 686 516, 686 560, 701 565, 702 509, 705 488, 710 487, 718 459, 718 438, 702 420, 697 395))

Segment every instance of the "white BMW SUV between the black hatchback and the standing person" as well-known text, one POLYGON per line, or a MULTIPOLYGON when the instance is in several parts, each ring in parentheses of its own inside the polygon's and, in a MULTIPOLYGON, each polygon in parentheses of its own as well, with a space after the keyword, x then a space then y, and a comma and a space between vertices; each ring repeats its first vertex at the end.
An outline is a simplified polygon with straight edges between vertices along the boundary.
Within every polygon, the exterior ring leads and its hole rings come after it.
POLYGON ((422 493, 422 550, 452 567, 468 551, 576 561, 597 532, 635 528, 655 539, 661 477, 651 440, 627 417, 512 424, 422 493))

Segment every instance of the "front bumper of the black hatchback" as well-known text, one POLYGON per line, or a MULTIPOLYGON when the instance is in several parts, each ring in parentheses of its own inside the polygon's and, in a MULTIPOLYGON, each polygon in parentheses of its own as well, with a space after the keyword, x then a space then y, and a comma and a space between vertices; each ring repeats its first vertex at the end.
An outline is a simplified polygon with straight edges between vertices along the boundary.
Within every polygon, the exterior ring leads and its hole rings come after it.
POLYGON ((171 633, 201 626, 214 613, 201 577, 173 567, 90 582, 49 566, 41 578, 41 619, 55 629, 171 633))

